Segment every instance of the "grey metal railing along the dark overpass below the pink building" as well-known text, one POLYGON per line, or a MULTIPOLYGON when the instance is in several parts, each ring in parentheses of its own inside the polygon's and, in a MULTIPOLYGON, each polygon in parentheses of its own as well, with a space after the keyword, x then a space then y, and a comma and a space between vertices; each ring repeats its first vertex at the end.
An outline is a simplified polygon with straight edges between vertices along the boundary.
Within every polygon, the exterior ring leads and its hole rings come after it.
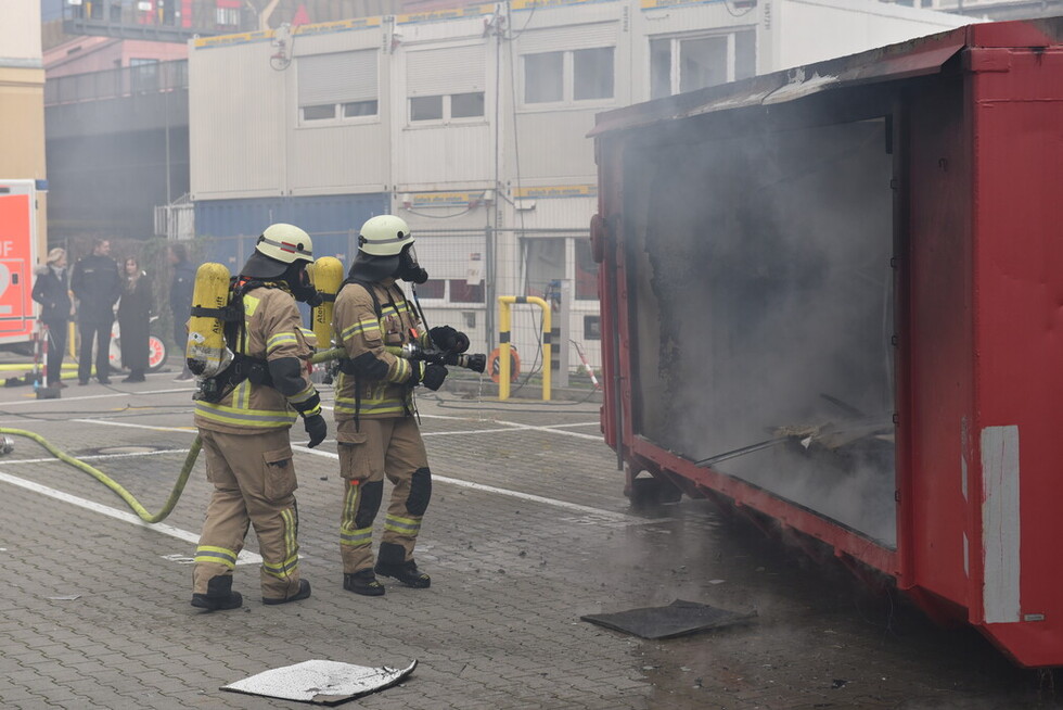
POLYGON ((174 91, 187 89, 188 86, 188 60, 152 62, 48 79, 44 83, 44 105, 174 91))

